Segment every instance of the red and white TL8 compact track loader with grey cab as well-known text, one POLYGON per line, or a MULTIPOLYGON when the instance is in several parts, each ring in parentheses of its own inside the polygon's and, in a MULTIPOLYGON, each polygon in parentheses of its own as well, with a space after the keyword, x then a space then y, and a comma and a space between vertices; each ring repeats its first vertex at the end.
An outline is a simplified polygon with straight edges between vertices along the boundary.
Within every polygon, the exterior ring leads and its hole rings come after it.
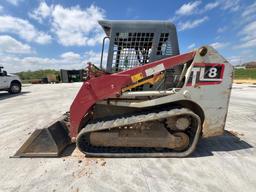
POLYGON ((215 49, 180 54, 169 22, 99 24, 100 68, 89 64, 70 111, 15 157, 54 157, 71 143, 87 156, 185 157, 200 138, 223 134, 233 68, 215 49))

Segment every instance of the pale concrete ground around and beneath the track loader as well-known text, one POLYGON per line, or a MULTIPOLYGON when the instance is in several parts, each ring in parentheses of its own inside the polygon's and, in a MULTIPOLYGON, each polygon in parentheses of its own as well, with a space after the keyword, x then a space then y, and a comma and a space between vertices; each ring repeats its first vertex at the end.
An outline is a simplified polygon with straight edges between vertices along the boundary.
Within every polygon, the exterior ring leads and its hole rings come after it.
MULTIPOLYGON (((0 92, 0 192, 256 191, 256 86, 234 85, 224 136, 189 158, 9 158, 35 128, 66 112, 81 84, 25 85, 0 92)), ((71 153, 71 155, 69 155, 71 153)))

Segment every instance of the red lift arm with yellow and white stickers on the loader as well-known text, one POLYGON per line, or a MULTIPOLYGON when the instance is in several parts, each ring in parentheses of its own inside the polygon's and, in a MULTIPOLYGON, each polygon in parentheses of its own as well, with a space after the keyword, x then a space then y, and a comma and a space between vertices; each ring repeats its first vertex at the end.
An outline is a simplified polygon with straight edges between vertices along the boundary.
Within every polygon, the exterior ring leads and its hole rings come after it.
POLYGON ((114 74, 106 74, 85 81, 70 107, 70 137, 75 141, 81 129, 82 121, 93 105, 100 100, 120 94, 122 89, 166 69, 191 61, 196 52, 154 61, 136 68, 114 74))

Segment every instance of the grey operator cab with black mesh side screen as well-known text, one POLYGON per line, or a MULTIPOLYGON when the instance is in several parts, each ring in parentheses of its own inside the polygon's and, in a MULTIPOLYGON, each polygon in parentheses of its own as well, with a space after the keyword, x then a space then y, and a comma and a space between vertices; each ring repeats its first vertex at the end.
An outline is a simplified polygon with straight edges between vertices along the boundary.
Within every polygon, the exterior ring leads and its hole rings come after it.
MULTIPOLYGON (((107 73, 116 73, 166 57, 179 55, 176 27, 169 21, 112 21, 101 20, 105 31, 100 68, 107 73), (108 53, 103 64, 105 43, 108 53)), ((163 90, 176 87, 183 67, 165 71, 165 78, 154 87, 140 90, 163 90)))

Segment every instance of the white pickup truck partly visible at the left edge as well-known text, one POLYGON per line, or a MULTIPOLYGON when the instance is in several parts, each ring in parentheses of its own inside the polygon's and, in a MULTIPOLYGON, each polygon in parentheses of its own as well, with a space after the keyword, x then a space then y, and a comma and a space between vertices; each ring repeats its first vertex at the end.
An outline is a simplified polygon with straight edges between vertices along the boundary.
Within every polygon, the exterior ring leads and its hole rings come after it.
POLYGON ((8 91, 10 94, 21 92, 21 80, 17 75, 8 74, 0 66, 0 91, 8 91))

